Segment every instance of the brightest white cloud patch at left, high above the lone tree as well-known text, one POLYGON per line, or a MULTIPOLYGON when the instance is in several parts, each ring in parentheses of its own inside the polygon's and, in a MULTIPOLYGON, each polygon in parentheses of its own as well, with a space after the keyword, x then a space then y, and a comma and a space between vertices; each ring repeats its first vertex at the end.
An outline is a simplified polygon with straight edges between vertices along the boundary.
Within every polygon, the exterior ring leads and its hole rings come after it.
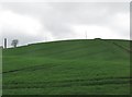
POLYGON ((37 32, 42 29, 42 25, 37 20, 26 15, 19 15, 11 11, 3 11, 0 15, 0 23, 2 23, 2 29, 18 31, 31 36, 36 36, 37 32), (6 28, 4 28, 6 27, 6 28))

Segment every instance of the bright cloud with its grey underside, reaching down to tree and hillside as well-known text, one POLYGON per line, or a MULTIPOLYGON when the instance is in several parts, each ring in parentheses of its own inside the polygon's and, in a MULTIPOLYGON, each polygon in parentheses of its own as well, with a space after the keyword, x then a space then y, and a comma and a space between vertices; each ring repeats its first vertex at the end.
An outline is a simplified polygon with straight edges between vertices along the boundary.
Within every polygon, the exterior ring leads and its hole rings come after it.
POLYGON ((35 17, 20 15, 10 10, 3 9, 0 9, 0 13, 1 38, 8 38, 9 44, 15 38, 20 40, 20 45, 42 41, 44 40, 45 35, 48 35, 52 38, 50 32, 46 32, 46 34, 43 33, 44 27, 35 17))

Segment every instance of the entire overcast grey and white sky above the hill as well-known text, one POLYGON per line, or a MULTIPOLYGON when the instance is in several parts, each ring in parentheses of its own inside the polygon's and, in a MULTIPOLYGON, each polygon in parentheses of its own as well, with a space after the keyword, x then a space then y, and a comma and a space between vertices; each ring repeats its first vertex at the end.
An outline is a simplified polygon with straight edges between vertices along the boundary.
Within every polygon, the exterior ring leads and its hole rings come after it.
POLYGON ((130 39, 129 2, 0 2, 0 45, 64 39, 130 39))

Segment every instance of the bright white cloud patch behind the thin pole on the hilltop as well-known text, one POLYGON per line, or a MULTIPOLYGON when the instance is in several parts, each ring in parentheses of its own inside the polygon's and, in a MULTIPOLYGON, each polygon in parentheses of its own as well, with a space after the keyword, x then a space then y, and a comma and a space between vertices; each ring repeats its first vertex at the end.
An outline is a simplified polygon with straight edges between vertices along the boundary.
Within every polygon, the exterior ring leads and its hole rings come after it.
MULTIPOLYGON (((73 27, 76 32, 75 35, 78 36, 78 38, 87 38, 94 39, 94 38, 111 38, 116 39, 118 37, 118 34, 112 31, 109 27, 106 26, 98 26, 98 25, 76 25, 73 27)), ((124 37, 120 37, 124 38, 124 37)))

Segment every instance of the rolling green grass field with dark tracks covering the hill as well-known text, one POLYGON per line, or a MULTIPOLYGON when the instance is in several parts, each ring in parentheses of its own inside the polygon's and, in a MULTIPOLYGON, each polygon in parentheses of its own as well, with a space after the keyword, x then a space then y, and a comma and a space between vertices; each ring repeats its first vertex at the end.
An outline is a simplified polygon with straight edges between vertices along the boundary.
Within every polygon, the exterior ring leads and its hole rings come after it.
POLYGON ((3 95, 128 95, 130 41, 63 40, 3 49, 3 95))

